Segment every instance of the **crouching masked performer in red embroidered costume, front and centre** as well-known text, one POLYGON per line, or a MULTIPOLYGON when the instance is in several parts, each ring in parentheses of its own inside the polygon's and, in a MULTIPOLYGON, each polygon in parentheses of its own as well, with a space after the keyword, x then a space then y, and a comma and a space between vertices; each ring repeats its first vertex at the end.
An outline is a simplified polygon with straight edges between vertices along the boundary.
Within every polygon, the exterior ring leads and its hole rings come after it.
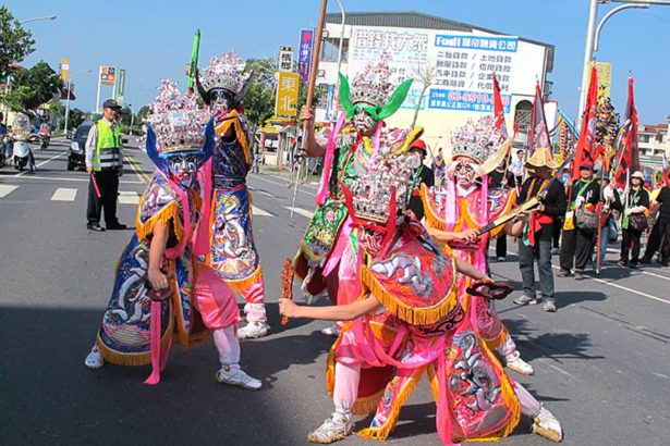
POLYGON ((369 428, 357 434, 386 439, 426 372, 442 444, 507 436, 521 413, 534 418, 534 432, 560 442, 562 429, 556 417, 505 375, 478 335, 459 284, 465 276, 477 280, 474 287, 488 289, 480 294, 486 298, 494 297, 495 292, 488 294, 492 289, 507 288, 497 295, 501 298, 511 288, 492 283, 448 249, 442 252, 421 223, 406 214, 412 177, 421 163, 406 152, 419 134, 402 135, 382 147, 353 189, 343 186, 360 232, 357 299, 337 307, 279 301, 288 318, 351 321, 328 358, 326 381, 334 413, 307 438, 322 444, 342 439, 353 431, 354 414, 375 413, 369 428))

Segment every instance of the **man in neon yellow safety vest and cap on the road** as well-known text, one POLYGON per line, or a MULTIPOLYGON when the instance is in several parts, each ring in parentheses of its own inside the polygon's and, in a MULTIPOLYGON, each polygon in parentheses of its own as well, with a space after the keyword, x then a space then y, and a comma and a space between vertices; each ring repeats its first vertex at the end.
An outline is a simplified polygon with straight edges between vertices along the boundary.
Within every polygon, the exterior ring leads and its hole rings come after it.
POLYGON ((88 184, 88 209, 86 227, 90 231, 105 231, 100 226, 100 214, 105 209, 105 226, 108 230, 125 230, 117 219, 117 197, 119 177, 123 175, 121 153, 121 127, 117 123, 121 106, 113 99, 102 104, 102 117, 90 127, 86 139, 86 172, 90 175, 88 184), (98 197, 98 190, 99 195, 98 197))

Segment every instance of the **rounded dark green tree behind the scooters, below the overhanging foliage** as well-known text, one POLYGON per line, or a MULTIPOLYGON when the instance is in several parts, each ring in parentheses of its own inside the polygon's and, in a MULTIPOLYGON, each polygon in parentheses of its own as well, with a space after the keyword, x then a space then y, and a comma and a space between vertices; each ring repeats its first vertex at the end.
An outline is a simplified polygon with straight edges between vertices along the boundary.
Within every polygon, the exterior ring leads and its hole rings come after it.
POLYGON ((7 101, 13 111, 28 115, 35 115, 38 107, 49 102, 63 88, 61 77, 44 61, 28 70, 16 70, 13 78, 14 88, 7 101))

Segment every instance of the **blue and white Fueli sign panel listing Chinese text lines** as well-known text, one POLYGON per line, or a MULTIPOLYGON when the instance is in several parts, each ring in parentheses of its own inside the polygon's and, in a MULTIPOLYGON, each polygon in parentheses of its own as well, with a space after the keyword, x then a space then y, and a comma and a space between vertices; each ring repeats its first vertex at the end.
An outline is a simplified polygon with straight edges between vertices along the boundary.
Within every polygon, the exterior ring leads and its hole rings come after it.
POLYGON ((435 36, 435 79, 429 109, 492 112, 492 74, 498 75, 509 112, 516 37, 452 34, 435 36))

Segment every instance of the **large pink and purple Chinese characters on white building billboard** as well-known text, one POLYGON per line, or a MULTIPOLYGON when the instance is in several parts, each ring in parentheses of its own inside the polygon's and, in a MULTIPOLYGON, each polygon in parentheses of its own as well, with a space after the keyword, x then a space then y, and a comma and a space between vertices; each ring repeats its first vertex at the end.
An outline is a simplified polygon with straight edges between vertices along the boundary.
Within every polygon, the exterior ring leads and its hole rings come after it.
MULTIPOLYGON (((425 29, 399 29, 380 27, 357 27, 350 44, 349 76, 365 70, 368 63, 388 55, 391 82, 399 85, 428 64, 429 35, 425 29)), ((422 85, 415 82, 403 102, 403 108, 414 109, 421 97, 422 85)), ((425 108, 422 106, 422 109, 425 108)))

